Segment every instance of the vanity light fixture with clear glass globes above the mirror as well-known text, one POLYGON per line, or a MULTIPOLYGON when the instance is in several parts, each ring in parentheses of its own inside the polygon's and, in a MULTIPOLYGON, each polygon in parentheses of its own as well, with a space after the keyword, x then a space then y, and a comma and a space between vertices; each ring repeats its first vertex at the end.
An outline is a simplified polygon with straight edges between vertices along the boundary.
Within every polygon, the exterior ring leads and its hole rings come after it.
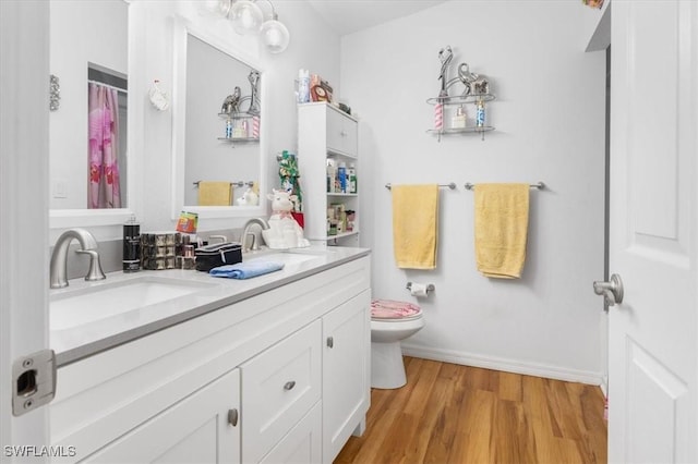
POLYGON ((257 0, 206 0, 203 8, 230 20, 232 28, 240 35, 258 34, 269 53, 281 53, 288 47, 290 35, 279 21, 272 1, 265 1, 272 8, 266 21, 257 0))

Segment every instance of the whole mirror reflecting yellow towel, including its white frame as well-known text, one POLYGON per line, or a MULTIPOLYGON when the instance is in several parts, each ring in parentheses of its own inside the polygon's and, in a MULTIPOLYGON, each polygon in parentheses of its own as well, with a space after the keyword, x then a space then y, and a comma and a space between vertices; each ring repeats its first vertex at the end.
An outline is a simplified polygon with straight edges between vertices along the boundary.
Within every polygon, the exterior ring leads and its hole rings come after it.
POLYGON ((173 202, 200 218, 263 215, 264 73, 230 40, 174 24, 173 202))

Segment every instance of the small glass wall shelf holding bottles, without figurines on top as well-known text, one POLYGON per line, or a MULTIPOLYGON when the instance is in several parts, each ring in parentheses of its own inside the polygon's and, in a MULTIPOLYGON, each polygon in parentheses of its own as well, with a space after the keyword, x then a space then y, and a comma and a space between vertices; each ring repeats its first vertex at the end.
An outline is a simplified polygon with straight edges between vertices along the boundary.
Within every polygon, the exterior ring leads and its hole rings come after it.
POLYGON ((434 107, 441 106, 441 115, 434 109, 434 129, 426 131, 428 134, 442 135, 480 133, 484 139, 484 133, 494 131, 494 126, 486 123, 485 102, 492 101, 495 96, 492 94, 468 94, 457 96, 434 97, 426 100, 434 107), (474 117, 468 114, 468 108, 474 107, 474 117), (455 108, 455 109, 454 109, 455 108))

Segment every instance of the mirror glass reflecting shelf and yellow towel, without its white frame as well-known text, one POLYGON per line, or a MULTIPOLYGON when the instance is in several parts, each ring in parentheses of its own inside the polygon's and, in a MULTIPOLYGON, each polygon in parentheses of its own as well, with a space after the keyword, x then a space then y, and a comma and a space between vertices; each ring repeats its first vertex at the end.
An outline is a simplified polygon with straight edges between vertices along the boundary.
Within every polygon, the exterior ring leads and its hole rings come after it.
POLYGON ((184 205, 236 206, 260 175, 260 74, 189 34, 184 205))

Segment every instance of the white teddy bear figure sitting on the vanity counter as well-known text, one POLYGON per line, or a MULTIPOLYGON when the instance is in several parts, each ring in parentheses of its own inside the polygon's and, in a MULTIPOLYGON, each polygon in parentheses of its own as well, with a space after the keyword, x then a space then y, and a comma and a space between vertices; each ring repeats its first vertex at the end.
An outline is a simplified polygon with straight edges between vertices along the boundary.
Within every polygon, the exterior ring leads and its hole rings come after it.
POLYGON ((303 229, 296 222, 291 211, 293 202, 298 199, 286 191, 272 190, 267 195, 272 200, 272 217, 269 229, 262 231, 264 242, 269 248, 286 249, 310 246, 310 242, 303 237, 303 229))

